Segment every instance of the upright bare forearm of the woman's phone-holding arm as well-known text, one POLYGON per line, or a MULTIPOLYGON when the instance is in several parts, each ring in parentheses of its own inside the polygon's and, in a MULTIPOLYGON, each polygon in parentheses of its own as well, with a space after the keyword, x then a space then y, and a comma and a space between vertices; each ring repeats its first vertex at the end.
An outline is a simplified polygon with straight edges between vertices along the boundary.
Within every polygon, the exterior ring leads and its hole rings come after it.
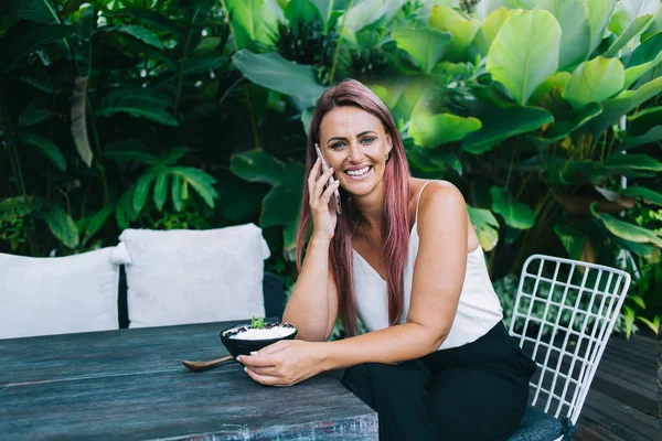
POLYGON ((329 240, 324 239, 312 238, 309 241, 301 273, 282 314, 284 321, 297 326, 297 337, 301 340, 325 340, 329 323, 329 240))

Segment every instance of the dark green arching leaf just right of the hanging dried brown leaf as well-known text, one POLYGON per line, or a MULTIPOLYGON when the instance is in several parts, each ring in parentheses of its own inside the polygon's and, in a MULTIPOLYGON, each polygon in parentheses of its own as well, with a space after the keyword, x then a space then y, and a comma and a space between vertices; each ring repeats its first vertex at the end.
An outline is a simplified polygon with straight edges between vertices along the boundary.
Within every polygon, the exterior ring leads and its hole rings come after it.
POLYGON ((142 117, 166 125, 178 126, 177 119, 168 112, 170 99, 159 93, 141 87, 121 87, 108 93, 96 109, 96 114, 109 117, 118 112, 142 117))

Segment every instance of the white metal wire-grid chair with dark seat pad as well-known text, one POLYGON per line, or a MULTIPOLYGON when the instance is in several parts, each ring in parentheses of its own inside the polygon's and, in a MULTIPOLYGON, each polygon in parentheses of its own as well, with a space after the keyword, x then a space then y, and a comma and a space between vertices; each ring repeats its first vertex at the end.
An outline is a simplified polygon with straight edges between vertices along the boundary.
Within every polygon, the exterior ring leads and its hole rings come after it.
POLYGON ((526 259, 509 333, 538 370, 510 441, 572 439, 629 287, 630 275, 618 269, 543 255, 526 259))

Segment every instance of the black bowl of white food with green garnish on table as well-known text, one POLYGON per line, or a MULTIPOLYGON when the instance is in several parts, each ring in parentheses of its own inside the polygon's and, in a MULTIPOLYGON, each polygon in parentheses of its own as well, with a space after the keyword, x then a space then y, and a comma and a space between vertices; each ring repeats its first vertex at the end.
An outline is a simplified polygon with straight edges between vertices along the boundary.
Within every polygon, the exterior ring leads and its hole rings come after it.
POLYGON ((297 327, 287 322, 264 323, 264 319, 253 319, 252 323, 237 324, 221 331, 221 341, 234 356, 250 355, 281 340, 293 340, 297 327))

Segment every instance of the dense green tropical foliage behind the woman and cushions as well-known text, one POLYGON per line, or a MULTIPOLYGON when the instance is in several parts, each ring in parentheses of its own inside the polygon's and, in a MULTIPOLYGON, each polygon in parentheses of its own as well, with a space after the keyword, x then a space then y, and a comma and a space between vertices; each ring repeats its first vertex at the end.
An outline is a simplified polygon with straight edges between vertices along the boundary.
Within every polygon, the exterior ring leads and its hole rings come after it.
MULTIPOLYGON (((306 122, 353 77, 465 194, 504 304, 533 252, 624 268, 662 318, 659 0, 11 0, 0 251, 254 222, 296 280, 306 122)), ((510 300, 509 300, 510 299, 510 300)))

